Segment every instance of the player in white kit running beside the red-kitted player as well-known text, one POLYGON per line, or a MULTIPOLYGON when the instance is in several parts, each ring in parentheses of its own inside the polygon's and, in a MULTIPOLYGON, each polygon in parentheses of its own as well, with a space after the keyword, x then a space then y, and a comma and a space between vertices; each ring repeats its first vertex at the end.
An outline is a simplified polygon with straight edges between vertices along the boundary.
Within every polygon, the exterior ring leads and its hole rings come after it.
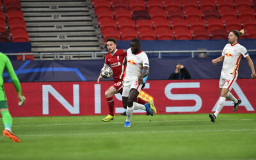
POLYGON ((156 114, 156 108, 149 103, 142 105, 134 102, 134 99, 139 95, 141 86, 143 85, 143 77, 149 73, 148 56, 140 49, 140 40, 131 40, 131 48, 127 50, 127 67, 123 81, 123 105, 127 106, 127 118, 124 127, 131 127, 131 116, 135 109, 143 109, 153 116, 153 111, 156 114), (144 70, 142 73, 141 70, 144 70))

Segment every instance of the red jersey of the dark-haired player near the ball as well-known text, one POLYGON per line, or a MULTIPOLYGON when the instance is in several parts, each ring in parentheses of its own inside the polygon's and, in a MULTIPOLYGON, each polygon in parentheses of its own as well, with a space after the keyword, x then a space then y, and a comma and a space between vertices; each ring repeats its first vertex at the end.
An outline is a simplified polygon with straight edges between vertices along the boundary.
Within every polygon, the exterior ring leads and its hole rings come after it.
POLYGON ((110 65, 113 70, 113 78, 115 80, 124 78, 126 65, 123 65, 123 63, 126 56, 127 52, 123 49, 116 49, 113 54, 110 52, 106 54, 105 65, 110 65))

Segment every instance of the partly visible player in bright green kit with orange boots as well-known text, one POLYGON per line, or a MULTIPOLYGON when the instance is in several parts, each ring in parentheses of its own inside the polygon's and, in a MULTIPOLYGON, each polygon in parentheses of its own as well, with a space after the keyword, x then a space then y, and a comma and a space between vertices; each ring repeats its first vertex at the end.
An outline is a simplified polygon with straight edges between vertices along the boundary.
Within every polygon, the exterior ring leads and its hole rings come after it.
POLYGON ((9 58, 0 52, 0 113, 2 115, 2 120, 4 124, 4 131, 3 135, 11 138, 14 142, 20 142, 20 139, 15 136, 12 132, 12 116, 9 113, 8 105, 7 105, 7 99, 4 93, 4 80, 3 80, 3 72, 4 69, 8 72, 12 79, 12 83, 15 87, 15 90, 18 93, 18 99, 19 99, 19 106, 22 106, 25 102, 25 97, 22 95, 21 88, 20 88, 20 81, 18 77, 16 76, 12 63, 10 62, 9 58))

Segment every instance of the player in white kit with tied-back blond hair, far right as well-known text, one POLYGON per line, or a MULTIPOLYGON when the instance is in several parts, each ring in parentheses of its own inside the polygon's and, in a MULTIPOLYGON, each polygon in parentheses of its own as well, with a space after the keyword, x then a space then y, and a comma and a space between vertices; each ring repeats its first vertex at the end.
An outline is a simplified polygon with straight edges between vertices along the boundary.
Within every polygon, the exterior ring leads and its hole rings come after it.
POLYGON ((215 122, 218 114, 225 104, 226 98, 234 102, 233 111, 236 111, 238 105, 241 104, 241 100, 236 99, 230 90, 232 89, 233 84, 236 82, 238 76, 238 67, 239 62, 242 56, 248 61, 248 65, 252 70, 252 79, 255 79, 255 69, 253 61, 250 58, 246 48, 243 45, 237 43, 239 36, 242 36, 244 33, 241 31, 230 31, 228 35, 228 44, 225 45, 222 54, 220 57, 212 60, 212 63, 216 65, 218 62, 223 61, 223 66, 220 76, 220 102, 218 103, 217 109, 214 114, 209 114, 211 122, 215 122))

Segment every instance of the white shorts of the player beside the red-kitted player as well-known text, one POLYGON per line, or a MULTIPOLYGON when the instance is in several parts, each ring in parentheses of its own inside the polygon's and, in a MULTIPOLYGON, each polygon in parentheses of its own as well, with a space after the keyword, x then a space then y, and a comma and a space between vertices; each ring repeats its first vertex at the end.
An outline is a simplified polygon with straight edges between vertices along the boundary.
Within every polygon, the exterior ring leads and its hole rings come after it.
POLYGON ((138 79, 134 79, 134 80, 130 80, 130 81, 123 81, 123 94, 122 94, 122 96, 123 97, 128 97, 129 93, 130 93, 130 90, 132 88, 138 90, 138 92, 140 93, 141 87, 142 87, 142 84, 139 85, 138 79))

